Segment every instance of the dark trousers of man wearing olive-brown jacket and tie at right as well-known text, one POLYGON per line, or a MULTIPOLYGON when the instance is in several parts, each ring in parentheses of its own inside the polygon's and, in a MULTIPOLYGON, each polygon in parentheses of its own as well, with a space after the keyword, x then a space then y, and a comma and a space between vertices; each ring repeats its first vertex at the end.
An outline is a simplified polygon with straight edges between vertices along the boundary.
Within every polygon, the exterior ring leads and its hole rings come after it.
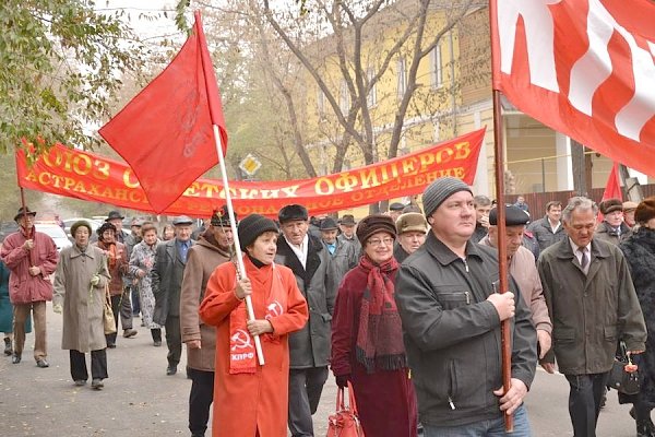
POLYGON ((569 414, 574 437, 595 437, 596 422, 600 413, 600 399, 607 386, 609 373, 591 375, 564 375, 571 387, 569 414))

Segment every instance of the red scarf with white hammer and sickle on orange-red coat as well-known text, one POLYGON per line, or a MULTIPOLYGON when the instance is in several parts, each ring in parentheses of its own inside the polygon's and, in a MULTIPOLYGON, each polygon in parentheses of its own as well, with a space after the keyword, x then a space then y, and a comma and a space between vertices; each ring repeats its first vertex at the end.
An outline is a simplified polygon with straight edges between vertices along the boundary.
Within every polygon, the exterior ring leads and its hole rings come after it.
MULTIPOLYGON (((243 263, 248 271, 248 277, 252 284, 252 306, 254 307, 255 318, 275 319, 287 310, 287 294, 282 283, 282 276, 275 264, 264 265, 261 269, 255 268, 248 257, 243 257, 243 263), (264 294, 265 306, 259 307, 257 302, 261 294, 264 294), (258 296, 255 296, 258 295, 258 296)), ((234 265, 234 263, 233 263, 234 265)), ((236 268, 235 268, 236 277, 236 268)), ((236 280, 235 280, 236 288, 236 280)), ((248 309, 246 302, 241 302, 229 315, 229 373, 254 374, 257 371, 257 359, 254 349, 254 338, 248 331, 246 322, 248 321, 248 309)), ((262 343, 278 343, 276 335, 266 333, 260 335, 262 343)), ((263 347, 263 345, 262 345, 263 347)))

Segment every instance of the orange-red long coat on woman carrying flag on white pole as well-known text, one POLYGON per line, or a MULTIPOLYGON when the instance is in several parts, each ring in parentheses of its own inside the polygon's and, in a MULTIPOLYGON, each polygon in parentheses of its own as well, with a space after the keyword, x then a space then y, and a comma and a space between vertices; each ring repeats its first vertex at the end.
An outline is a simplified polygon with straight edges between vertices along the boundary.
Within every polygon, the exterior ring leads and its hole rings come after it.
POLYGON ((269 319, 273 326, 272 335, 277 341, 262 341, 264 366, 258 365, 254 374, 233 375, 229 373, 230 312, 241 304, 235 295, 236 269, 231 263, 223 263, 210 277, 206 296, 200 306, 200 317, 207 324, 216 327, 212 435, 252 437, 255 430, 259 430, 261 437, 286 437, 288 334, 307 323, 307 302, 288 268, 275 264, 258 269, 248 257, 245 257, 243 263, 252 283, 252 306, 257 319, 263 319, 266 314, 273 274, 282 275, 282 283, 287 292, 287 305, 282 315, 269 319))

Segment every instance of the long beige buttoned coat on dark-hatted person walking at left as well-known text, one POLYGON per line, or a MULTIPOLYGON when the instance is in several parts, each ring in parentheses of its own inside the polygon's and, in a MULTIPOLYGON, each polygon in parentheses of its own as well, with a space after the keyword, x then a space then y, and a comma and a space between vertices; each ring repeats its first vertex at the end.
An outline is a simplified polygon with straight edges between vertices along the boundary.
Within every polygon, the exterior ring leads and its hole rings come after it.
POLYGON ((52 299, 53 305, 63 304, 61 349, 90 352, 107 347, 103 309, 108 283, 109 271, 103 250, 90 245, 81 252, 73 245, 61 251, 52 299), (92 288, 94 274, 100 275, 100 282, 92 288))

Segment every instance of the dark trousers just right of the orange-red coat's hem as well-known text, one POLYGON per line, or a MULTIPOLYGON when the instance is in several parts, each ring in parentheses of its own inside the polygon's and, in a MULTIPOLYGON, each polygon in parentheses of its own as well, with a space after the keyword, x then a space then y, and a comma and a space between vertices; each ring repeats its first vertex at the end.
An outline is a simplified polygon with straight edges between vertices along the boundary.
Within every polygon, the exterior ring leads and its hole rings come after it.
POLYGON ((289 370, 288 425, 291 436, 313 436, 311 415, 319 408, 326 380, 326 366, 289 370))

